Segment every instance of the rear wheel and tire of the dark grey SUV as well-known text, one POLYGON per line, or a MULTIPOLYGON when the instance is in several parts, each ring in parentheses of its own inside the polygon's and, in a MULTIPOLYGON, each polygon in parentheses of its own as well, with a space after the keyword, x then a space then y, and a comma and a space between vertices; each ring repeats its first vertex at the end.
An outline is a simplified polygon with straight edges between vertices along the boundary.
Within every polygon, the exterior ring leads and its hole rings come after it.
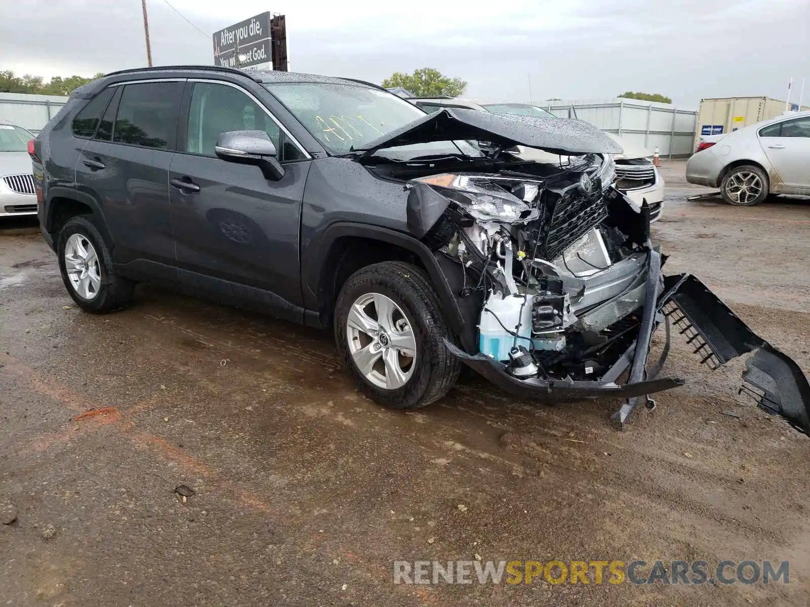
POLYGON ((89 218, 79 215, 65 223, 57 256, 65 288, 85 312, 113 312, 132 302, 135 283, 116 273, 113 255, 89 218))

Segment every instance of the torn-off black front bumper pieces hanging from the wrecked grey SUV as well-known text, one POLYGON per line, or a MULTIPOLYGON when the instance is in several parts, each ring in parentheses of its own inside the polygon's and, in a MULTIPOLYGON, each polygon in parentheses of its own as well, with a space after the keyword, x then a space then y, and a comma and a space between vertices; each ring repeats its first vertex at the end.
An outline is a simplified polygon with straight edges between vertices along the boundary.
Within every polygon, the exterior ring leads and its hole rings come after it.
POLYGON ((468 367, 518 397, 553 403, 591 397, 623 397, 627 400, 613 419, 625 426, 639 404, 648 405, 648 395, 685 383, 679 377, 657 378, 669 352, 670 324, 687 338, 701 363, 712 368, 753 352, 743 374, 740 393, 751 394, 757 405, 779 414, 797 430, 810 434, 810 384, 799 366, 785 354, 753 333, 734 312, 691 274, 663 277, 661 256, 650 251, 647 289, 636 341, 611 368, 595 381, 553 380, 539 377, 518 380, 505 365, 483 354, 467 354, 445 339, 452 354, 468 367), (667 335, 659 360, 650 366, 650 340, 654 329, 665 324, 667 335), (625 384, 617 384, 629 369, 625 384))

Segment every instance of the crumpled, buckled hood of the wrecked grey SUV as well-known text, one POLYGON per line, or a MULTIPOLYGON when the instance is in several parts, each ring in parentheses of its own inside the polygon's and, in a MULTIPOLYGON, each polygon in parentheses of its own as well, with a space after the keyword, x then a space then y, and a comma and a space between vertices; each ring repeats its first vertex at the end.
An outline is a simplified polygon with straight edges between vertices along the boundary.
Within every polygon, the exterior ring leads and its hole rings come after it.
POLYGON ((581 120, 493 114, 444 108, 369 142, 361 158, 386 147, 471 139, 498 146, 528 146, 559 155, 620 154, 621 146, 581 120))

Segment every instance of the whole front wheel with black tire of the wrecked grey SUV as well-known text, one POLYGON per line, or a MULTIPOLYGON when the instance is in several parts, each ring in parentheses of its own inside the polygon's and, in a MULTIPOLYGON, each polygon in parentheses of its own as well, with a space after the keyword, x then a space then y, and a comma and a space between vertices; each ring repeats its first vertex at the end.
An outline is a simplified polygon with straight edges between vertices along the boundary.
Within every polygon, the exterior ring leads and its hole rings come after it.
POLYGON ((415 410, 453 387, 461 363, 438 296, 424 272, 383 261, 348 278, 335 304, 335 342, 367 397, 390 409, 415 410))

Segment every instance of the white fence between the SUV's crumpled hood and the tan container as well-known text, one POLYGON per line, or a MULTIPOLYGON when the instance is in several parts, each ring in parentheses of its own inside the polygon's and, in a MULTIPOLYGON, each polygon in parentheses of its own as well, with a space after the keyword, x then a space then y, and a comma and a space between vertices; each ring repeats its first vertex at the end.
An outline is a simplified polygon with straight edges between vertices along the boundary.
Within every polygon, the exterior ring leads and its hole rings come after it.
POLYGON ((658 147, 662 156, 688 156, 694 151, 697 110, 636 99, 548 100, 535 105, 557 117, 588 121, 629 144, 650 151, 658 147))

